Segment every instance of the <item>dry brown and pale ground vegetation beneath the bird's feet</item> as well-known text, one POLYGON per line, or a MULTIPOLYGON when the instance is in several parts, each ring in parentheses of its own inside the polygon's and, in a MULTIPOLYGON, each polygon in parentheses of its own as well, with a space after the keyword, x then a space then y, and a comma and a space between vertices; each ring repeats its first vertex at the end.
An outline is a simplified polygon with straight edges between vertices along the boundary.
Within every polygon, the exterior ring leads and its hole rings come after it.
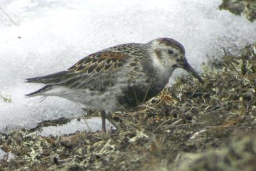
POLYGON ((40 124, 2 133, 0 147, 16 157, 0 170, 255 170, 256 47, 212 61, 204 84, 180 78, 143 107, 116 114, 119 131, 40 137, 40 124))

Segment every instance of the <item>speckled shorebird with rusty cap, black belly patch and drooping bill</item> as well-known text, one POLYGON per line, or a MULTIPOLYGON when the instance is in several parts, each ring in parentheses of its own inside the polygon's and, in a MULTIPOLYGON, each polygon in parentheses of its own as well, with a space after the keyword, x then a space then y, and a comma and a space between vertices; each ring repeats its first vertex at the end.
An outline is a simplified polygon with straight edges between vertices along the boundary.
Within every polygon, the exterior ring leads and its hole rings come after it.
POLYGON ((45 84, 26 96, 58 96, 102 111, 102 130, 111 113, 134 108, 150 100, 168 84, 176 68, 202 78, 189 65, 185 49, 172 38, 148 43, 127 43, 84 57, 67 70, 26 82, 45 84))

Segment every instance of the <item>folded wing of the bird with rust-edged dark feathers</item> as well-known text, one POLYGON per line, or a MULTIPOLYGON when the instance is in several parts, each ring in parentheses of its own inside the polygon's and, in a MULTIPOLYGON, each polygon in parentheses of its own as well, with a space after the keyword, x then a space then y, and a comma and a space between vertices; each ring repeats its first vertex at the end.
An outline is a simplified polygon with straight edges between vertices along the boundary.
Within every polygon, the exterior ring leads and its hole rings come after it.
POLYGON ((127 57, 120 52, 103 50, 84 57, 66 71, 44 77, 28 78, 26 81, 46 85, 63 85, 71 89, 102 91, 115 84, 115 73, 124 65, 127 57))

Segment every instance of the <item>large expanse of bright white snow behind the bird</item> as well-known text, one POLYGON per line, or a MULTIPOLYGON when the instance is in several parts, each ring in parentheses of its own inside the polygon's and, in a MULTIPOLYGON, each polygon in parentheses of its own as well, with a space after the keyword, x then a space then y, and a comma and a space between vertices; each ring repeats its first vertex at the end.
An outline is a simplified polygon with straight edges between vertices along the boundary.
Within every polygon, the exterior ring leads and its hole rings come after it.
POLYGON ((221 56, 221 48, 237 52, 255 41, 256 22, 220 11, 220 4, 221 0, 1 0, 0 94, 11 95, 12 103, 0 98, 0 131, 83 114, 79 105, 62 98, 49 97, 42 103, 37 97, 24 98, 42 87, 24 80, 66 70, 102 48, 170 37, 184 45, 189 63, 200 70, 207 55, 221 56))

